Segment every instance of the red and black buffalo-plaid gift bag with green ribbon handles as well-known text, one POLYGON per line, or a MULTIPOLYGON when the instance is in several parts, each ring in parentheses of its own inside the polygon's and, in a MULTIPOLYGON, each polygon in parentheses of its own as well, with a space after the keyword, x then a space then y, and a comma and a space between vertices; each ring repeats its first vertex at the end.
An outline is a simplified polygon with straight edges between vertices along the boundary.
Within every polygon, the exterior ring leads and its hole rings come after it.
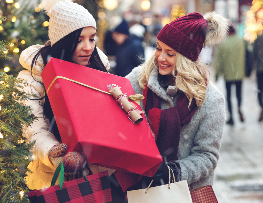
POLYGON ((29 192, 32 203, 112 203, 108 171, 64 183, 64 175, 59 176, 59 185, 55 185, 59 171, 64 174, 63 163, 56 169, 49 188, 29 192))

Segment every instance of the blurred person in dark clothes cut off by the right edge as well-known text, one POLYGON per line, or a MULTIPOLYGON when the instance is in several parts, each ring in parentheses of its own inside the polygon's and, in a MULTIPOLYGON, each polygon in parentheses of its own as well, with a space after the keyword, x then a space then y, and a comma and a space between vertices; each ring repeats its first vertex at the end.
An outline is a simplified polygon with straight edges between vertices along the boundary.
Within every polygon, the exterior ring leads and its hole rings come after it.
POLYGON ((257 97, 259 99, 259 104, 261 106, 261 113, 259 116, 259 121, 263 120, 263 35, 258 35, 254 43, 253 49, 254 61, 257 64, 257 97))

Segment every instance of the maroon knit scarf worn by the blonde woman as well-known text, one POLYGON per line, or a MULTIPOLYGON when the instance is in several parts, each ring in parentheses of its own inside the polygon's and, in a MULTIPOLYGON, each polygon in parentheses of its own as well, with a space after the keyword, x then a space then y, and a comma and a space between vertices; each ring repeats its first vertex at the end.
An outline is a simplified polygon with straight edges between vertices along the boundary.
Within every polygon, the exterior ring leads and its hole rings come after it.
MULTIPOLYGON (((161 110, 161 99, 148 87, 144 89, 143 106, 148 123, 155 135, 156 145, 160 154, 166 157, 167 161, 178 160, 177 152, 180 140, 180 131, 185 124, 190 123, 192 116, 198 109, 195 100, 188 108, 189 100, 185 94, 181 94, 177 99, 176 106, 161 110)), ((166 160, 165 160, 166 161, 166 160)), ((141 175, 124 171, 114 173, 122 190, 127 189, 141 179, 141 175)))

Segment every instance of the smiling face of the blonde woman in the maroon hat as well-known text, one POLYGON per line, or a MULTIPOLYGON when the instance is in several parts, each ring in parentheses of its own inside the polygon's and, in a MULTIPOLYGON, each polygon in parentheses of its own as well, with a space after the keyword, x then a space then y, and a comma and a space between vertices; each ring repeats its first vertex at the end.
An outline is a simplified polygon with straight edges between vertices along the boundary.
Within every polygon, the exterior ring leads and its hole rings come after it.
POLYGON ((161 75, 172 74, 176 53, 173 48, 158 40, 155 57, 158 61, 159 73, 161 75))

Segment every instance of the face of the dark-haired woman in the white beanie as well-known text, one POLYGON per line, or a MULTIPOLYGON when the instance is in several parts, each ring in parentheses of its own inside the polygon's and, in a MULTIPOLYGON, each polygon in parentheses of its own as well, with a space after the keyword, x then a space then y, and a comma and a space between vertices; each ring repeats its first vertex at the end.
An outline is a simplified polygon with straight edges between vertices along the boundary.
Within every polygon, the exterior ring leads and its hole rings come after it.
POLYGON ((71 58, 73 62, 84 66, 88 65, 90 56, 95 48, 95 35, 96 29, 94 27, 83 28, 77 48, 71 58))

